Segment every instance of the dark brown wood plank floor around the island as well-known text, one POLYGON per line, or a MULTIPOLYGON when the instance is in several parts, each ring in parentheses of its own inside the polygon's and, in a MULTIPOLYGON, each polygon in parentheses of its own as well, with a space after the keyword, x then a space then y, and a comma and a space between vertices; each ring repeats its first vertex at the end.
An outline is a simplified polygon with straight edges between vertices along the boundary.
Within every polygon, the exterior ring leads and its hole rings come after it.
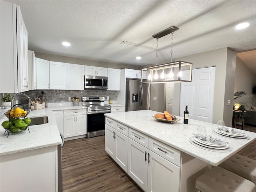
MULTIPOLYGON (((244 130, 256 132, 256 127, 245 125, 244 130)), ((108 156, 104 145, 104 136, 65 141, 62 148, 64 192, 143 192, 108 156)), ((256 141, 238 154, 256 160, 256 141)))

